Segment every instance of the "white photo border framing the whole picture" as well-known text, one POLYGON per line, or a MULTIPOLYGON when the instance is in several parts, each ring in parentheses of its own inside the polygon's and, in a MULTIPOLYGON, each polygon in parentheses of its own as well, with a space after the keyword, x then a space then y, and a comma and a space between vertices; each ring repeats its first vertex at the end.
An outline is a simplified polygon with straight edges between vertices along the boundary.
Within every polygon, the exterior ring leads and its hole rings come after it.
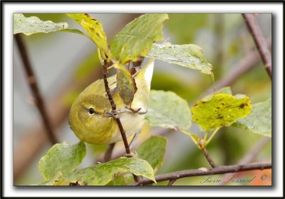
POLYGON ((2 69, 4 71, 4 129, 2 131, 1 186, 4 197, 281 197, 283 196, 283 3, 115 3, 115 2, 1 2, 2 8, 2 69), (150 5, 151 4, 151 5, 150 5), (13 13, 271 13, 274 136, 272 142, 272 187, 139 187, 139 188, 57 188, 13 186, 13 13), (241 191, 242 190, 242 191, 241 191))

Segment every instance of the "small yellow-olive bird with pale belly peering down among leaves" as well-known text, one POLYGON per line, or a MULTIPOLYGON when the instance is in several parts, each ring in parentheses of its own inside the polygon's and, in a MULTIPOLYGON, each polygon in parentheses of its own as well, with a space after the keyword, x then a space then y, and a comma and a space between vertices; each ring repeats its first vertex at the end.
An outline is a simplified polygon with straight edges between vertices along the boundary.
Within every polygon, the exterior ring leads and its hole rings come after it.
MULTIPOLYGON (((127 138, 139 132, 147 113, 147 101, 150 92, 154 61, 150 59, 135 76, 138 90, 131 108, 140 111, 133 113, 125 108, 117 88, 116 75, 108 78, 110 91, 116 103, 120 121, 127 138)), ((105 92, 104 81, 99 79, 88 86, 74 101, 69 113, 68 123, 76 136, 86 143, 109 144, 122 140, 112 108, 105 92)))

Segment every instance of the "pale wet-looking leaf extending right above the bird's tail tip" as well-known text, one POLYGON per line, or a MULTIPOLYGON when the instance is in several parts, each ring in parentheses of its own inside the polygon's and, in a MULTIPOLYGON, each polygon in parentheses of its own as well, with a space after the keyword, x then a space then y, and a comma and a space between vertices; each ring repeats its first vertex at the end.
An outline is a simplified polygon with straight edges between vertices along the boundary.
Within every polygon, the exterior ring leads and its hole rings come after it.
POLYGON ((201 47, 194 44, 153 44, 147 57, 212 74, 212 64, 207 62, 201 47))

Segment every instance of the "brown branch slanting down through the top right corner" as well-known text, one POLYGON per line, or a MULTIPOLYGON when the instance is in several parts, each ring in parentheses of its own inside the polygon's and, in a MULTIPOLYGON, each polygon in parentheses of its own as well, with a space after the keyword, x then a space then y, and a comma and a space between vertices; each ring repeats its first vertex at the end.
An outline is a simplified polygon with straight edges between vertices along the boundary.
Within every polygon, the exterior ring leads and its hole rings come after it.
POLYGON ((246 22, 247 27, 249 28, 250 34, 252 34, 252 38, 254 39, 254 43, 257 46, 259 54, 262 58, 264 67, 269 77, 272 78, 271 53, 269 52, 269 49, 267 48, 266 41, 261 32, 261 29, 259 28, 257 21, 255 21, 253 14, 242 14, 242 16, 244 17, 244 21, 246 22))

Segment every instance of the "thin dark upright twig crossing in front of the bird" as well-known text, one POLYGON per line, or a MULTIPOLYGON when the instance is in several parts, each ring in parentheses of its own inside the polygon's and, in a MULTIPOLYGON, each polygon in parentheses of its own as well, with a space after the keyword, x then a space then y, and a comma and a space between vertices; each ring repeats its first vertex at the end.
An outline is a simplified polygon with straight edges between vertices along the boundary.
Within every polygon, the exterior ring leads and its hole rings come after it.
POLYGON ((105 85, 105 91, 107 93, 108 99, 109 99, 110 104, 112 106, 112 110, 113 110, 115 121, 117 122, 118 127, 120 129, 120 135, 123 138, 123 143, 125 145, 125 153, 127 153, 127 155, 130 155, 130 147, 129 147, 129 144, 128 144, 127 136, 125 136, 125 130, 123 128, 122 123, 120 122, 120 117, 119 117, 119 115, 117 113, 117 108, 116 108, 116 105, 115 105, 115 101, 113 100, 113 97, 112 97, 112 95, 110 93, 110 88, 109 88, 109 84, 108 84, 108 80, 107 80, 107 74, 108 74, 107 61, 104 61, 104 63, 105 64, 103 66, 103 80, 104 80, 104 85, 105 85))

